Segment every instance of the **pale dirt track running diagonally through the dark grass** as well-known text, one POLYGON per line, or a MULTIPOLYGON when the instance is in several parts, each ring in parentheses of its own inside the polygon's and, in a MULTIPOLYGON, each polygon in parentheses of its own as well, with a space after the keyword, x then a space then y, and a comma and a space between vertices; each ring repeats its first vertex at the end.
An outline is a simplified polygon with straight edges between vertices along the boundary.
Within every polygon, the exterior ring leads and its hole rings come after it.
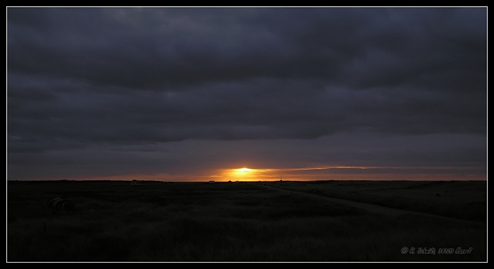
POLYGON ((414 212, 414 211, 408 211, 408 210, 401 210, 401 209, 395 209, 391 207, 385 207, 385 206, 380 206, 376 204, 371 204, 371 203, 365 203, 365 202, 355 202, 355 201, 350 201, 350 200, 344 200, 344 199, 338 199, 338 198, 331 198, 327 196, 322 196, 322 195, 317 195, 317 194, 312 194, 312 193, 305 193, 305 192, 299 192, 299 191, 293 191, 293 190, 286 190, 282 188, 277 188, 273 186, 264 186, 268 189, 273 189, 277 190, 280 192, 285 192, 285 193, 290 193, 290 194, 296 194, 296 195, 301 195, 305 197, 309 197, 312 199, 320 199, 320 200, 325 200, 329 202, 334 202, 334 203, 339 203, 347 206, 352 206, 360 209, 364 209, 370 213, 375 213, 375 214, 381 214, 381 215, 391 215, 391 216, 400 216, 400 215, 417 215, 417 216, 427 216, 427 217, 436 217, 436 218, 442 218, 442 219, 450 219, 454 221, 465 221, 465 222, 471 222, 467 220, 460 220, 460 219, 455 219, 455 218, 450 218, 450 217, 444 217, 444 216, 439 216, 439 215, 433 215, 433 214, 427 214, 427 213, 420 213, 420 212, 414 212))

